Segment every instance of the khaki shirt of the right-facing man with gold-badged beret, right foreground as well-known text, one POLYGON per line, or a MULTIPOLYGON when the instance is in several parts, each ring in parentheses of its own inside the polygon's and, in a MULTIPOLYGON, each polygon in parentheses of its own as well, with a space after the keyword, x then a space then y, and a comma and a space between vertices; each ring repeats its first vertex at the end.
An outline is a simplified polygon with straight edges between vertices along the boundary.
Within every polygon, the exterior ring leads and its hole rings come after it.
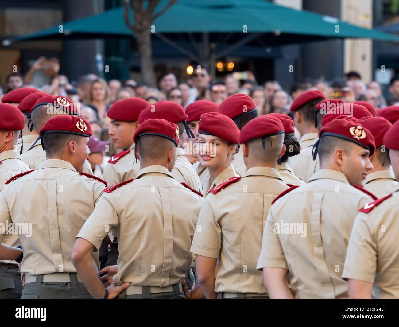
POLYGON ((272 205, 257 268, 288 270, 296 299, 346 299, 341 274, 350 232, 359 209, 372 200, 342 172, 318 170, 272 205))

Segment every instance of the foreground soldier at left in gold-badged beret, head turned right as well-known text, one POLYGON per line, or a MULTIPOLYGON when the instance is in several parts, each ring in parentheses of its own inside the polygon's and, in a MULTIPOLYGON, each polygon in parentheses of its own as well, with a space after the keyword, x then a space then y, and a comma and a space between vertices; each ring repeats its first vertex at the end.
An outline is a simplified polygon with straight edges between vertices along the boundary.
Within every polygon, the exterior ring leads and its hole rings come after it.
MULTIPOLYGON (((71 262, 75 238, 106 185, 98 177, 78 172, 90 153, 91 135, 89 123, 82 118, 49 119, 40 129, 47 160, 36 170, 10 178, 0 193, 0 222, 25 227, 18 231, 24 254, 21 299, 92 298, 71 262)), ((98 254, 91 253, 87 264, 96 270, 98 254)))

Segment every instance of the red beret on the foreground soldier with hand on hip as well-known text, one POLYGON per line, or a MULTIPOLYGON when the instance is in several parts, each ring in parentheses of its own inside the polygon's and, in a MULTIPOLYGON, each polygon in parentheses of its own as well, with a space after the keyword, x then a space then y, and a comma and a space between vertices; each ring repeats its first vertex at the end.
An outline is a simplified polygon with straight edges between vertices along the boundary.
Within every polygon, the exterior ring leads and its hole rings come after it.
MULTIPOLYGON (((168 101, 160 101, 168 102, 168 101)), ((179 144, 179 128, 176 124, 170 123, 166 119, 147 119, 144 123, 137 127, 133 135, 133 142, 136 143, 136 139, 143 135, 155 135, 164 137, 173 141, 176 147, 179 144)))

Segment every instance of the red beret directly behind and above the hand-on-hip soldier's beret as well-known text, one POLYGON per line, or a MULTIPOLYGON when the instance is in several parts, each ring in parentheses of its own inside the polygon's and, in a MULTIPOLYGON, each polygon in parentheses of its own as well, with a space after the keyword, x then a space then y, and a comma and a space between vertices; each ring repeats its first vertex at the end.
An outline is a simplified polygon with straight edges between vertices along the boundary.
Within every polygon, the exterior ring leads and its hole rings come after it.
POLYGON ((170 123, 179 123, 187 118, 181 105, 171 101, 158 101, 148 105, 138 116, 138 123, 142 124, 147 119, 165 119, 170 123))

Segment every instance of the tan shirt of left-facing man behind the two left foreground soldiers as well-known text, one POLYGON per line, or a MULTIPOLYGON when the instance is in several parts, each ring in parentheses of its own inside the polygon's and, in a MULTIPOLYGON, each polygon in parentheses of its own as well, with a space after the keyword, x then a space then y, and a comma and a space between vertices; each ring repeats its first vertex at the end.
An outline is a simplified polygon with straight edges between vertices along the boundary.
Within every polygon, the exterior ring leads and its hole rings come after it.
MULTIPOLYGON (((110 185, 116 185, 130 178, 136 178, 140 171, 140 162, 134 156, 134 143, 129 147, 130 152, 126 153, 116 163, 107 163, 101 177, 110 185)), ((111 158, 112 159, 112 158, 111 158)))

